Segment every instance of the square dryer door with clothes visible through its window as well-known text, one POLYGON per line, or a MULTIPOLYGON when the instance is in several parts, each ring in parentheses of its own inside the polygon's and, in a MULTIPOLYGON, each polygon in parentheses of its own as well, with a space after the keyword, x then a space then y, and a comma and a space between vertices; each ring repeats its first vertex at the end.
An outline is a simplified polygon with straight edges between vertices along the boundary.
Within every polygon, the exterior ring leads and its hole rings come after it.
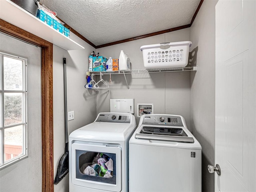
POLYGON ((72 183, 86 188, 122 190, 121 148, 75 141, 71 145, 72 183))

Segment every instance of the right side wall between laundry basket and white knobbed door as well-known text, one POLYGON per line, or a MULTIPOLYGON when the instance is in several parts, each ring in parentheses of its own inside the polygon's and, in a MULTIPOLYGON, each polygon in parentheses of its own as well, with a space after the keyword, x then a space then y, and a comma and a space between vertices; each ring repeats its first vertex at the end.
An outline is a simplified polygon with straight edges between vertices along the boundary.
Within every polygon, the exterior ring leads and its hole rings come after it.
POLYGON ((215 5, 204 0, 191 26, 193 62, 198 71, 191 75, 191 128, 202 145, 202 191, 214 191, 214 174, 207 165, 215 153, 215 5))

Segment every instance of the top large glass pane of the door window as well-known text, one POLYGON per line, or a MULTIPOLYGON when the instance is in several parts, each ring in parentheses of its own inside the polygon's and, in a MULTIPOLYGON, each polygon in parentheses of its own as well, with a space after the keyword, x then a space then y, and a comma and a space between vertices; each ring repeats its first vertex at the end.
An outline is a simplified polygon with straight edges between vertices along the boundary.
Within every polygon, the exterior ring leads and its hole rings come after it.
POLYGON ((22 90, 22 61, 4 57, 4 89, 22 90))

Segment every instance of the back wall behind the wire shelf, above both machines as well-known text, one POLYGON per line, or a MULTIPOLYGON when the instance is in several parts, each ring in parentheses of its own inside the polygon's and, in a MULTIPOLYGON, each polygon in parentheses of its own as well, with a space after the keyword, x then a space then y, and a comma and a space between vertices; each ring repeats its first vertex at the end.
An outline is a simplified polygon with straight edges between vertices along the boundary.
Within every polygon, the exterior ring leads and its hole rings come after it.
MULTIPOLYGON (((132 69, 144 69, 140 46, 188 40, 190 28, 99 48, 97 52, 106 58, 119 58, 120 50, 124 50, 131 60, 132 69)), ((104 75, 103 78, 109 81, 109 75, 104 75)), ((153 103, 154 113, 180 114, 190 128, 190 72, 127 74, 126 78, 130 90, 122 74, 113 74, 110 88, 96 91, 97 114, 110 111, 110 98, 134 98, 135 110, 137 103, 153 103)), ((138 123, 137 112, 134 115, 138 123)))

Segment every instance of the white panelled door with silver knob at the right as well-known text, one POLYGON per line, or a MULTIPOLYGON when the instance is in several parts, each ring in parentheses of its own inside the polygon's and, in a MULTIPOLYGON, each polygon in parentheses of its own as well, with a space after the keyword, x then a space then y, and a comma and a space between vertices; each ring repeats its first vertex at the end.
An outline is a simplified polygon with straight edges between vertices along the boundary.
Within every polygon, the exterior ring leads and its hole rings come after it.
POLYGON ((256 191, 256 1, 216 4, 215 191, 256 191))

